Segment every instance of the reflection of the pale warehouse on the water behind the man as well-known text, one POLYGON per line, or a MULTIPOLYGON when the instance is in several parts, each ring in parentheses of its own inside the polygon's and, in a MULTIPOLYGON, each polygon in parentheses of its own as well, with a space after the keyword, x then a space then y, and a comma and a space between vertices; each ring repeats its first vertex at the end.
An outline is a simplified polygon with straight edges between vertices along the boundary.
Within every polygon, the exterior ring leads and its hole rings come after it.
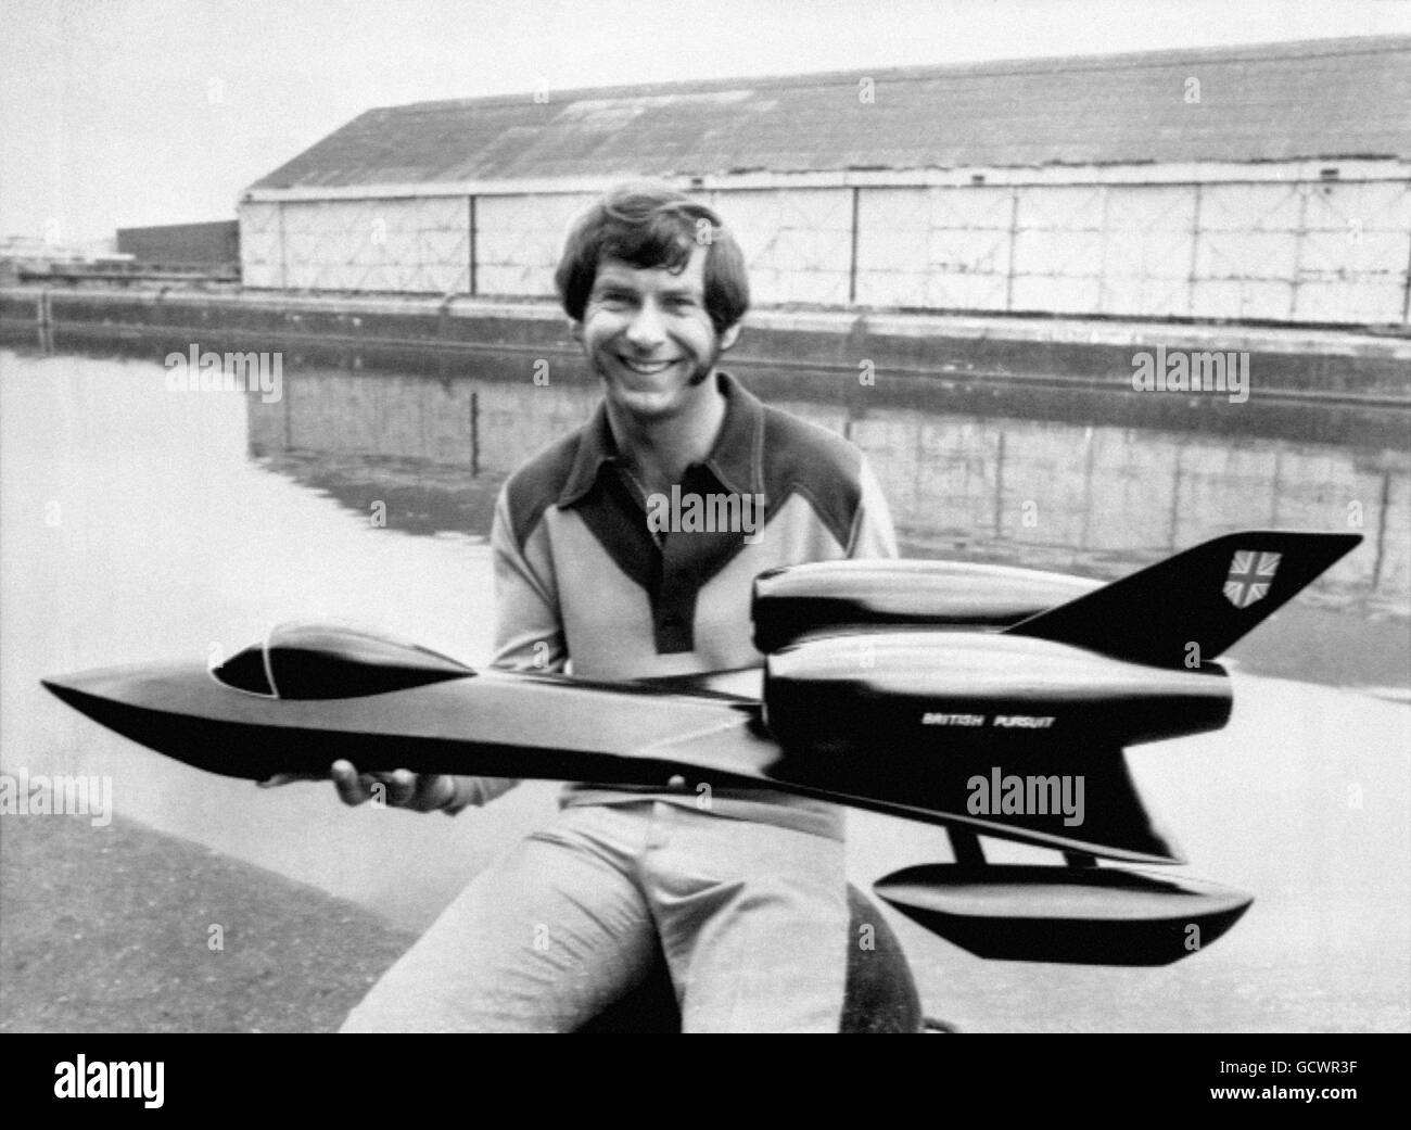
MULTIPOLYGON (((535 385, 522 358, 440 379, 302 367, 248 401, 250 451, 389 526, 485 537, 499 484, 581 423, 586 379, 535 385)), ((1311 590, 1331 607, 1411 605, 1411 456, 1390 449, 766 399, 872 460, 906 556, 1118 577, 1240 528, 1355 529, 1367 545, 1311 590)), ((796 395, 796 387, 790 389, 796 395)), ((944 409, 944 392, 937 395, 944 409)))

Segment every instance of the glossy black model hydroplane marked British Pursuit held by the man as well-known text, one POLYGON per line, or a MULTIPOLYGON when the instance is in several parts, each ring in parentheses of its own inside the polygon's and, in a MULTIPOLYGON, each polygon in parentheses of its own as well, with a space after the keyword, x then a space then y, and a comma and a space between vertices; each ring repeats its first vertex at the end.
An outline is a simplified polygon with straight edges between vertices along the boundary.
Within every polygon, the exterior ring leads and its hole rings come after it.
POLYGON ((1225 725, 1215 659, 1360 540, 1232 533, 1106 585, 944 561, 777 569, 755 581, 762 670, 477 672, 367 632, 285 625, 212 670, 44 686, 135 742, 251 780, 346 758, 363 772, 776 789, 940 824, 955 862, 875 886, 933 932, 985 958, 1163 965, 1253 899, 1098 866, 1184 862, 1123 751, 1225 725), (988 863, 981 835, 1065 863, 988 863))

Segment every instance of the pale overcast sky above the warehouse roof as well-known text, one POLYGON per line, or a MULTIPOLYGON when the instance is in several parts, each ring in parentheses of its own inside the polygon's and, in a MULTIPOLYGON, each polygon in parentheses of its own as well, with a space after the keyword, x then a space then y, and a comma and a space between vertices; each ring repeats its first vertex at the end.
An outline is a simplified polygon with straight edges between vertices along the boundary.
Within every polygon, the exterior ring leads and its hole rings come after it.
POLYGON ((6 0, 0 237, 231 219, 374 106, 1411 34, 1411 0, 6 0))

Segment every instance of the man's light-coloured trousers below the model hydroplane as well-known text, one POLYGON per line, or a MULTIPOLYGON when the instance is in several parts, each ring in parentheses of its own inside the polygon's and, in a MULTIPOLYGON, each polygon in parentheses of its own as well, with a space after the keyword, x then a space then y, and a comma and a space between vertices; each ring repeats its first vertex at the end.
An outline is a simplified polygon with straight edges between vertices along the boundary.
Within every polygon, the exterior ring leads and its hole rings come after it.
POLYGON ((571 1031, 665 952, 684 1031, 838 1031, 844 845, 663 801, 571 806, 456 897, 343 1031, 571 1031))

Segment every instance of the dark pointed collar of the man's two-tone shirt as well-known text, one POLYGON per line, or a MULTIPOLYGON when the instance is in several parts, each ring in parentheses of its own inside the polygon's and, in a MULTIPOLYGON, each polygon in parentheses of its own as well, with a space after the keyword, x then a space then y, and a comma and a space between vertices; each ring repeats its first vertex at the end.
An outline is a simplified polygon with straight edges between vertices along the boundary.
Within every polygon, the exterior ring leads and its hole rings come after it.
MULTIPOLYGON (((728 372, 717 370, 715 381, 725 396, 725 419, 703 466, 727 491, 763 497, 765 406, 728 372)), ((581 502, 597 484, 602 466, 619 463, 622 456, 608 425, 607 403, 600 401, 579 437, 579 450, 559 494, 559 505, 581 502)))

